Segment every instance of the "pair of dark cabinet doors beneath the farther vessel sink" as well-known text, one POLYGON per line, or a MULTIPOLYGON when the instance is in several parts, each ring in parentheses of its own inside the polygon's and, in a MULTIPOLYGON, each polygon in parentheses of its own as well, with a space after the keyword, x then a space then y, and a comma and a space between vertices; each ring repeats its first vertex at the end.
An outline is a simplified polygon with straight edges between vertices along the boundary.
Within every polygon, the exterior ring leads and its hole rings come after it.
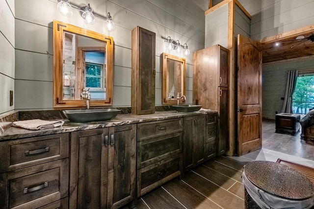
POLYGON ((190 170, 206 159, 205 115, 183 118, 183 171, 190 170))

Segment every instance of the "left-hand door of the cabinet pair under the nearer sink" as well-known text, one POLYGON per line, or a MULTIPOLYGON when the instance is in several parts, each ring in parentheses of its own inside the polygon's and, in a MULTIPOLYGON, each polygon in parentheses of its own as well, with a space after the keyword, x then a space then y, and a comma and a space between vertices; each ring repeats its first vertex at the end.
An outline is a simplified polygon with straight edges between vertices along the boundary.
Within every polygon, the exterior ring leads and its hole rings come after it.
POLYGON ((106 208, 108 128, 71 133, 70 208, 106 208))

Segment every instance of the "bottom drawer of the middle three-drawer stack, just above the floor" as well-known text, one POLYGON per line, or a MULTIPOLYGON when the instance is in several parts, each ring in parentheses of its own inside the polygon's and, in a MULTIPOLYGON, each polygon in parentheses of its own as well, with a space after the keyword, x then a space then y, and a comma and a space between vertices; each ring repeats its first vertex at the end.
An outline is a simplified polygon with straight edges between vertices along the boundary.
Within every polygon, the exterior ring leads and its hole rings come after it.
POLYGON ((140 169, 137 172, 137 196, 179 176, 181 163, 182 156, 177 155, 140 169))

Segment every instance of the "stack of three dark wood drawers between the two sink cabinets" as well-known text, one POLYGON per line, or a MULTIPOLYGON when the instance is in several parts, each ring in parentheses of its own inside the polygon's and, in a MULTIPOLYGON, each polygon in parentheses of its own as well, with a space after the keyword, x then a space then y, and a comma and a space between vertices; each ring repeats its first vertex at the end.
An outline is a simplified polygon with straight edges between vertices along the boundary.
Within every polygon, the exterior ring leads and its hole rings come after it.
POLYGON ((182 173, 180 119, 137 125, 137 197, 182 173))

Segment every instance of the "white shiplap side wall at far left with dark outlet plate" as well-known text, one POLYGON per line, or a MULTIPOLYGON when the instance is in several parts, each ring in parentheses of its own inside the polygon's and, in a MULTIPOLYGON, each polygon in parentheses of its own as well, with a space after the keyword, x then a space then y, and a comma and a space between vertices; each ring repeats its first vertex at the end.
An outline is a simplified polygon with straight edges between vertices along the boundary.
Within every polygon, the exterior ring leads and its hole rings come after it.
POLYGON ((10 90, 14 91, 14 0, 0 0, 0 114, 14 110, 10 90))

